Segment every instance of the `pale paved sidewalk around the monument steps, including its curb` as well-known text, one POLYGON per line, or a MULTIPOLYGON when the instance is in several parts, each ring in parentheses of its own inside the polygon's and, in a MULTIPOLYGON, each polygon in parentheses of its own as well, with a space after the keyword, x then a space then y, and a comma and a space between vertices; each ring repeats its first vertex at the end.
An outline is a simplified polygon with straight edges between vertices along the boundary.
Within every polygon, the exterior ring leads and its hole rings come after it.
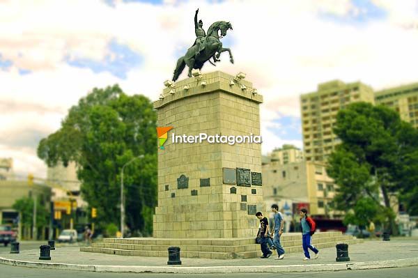
POLYGON ((80 252, 77 247, 62 247, 51 252, 51 261, 40 261, 39 249, 26 250, 20 254, 0 254, 0 263, 23 265, 35 268, 59 268, 112 272, 302 272, 323 270, 347 270, 387 268, 418 265, 417 240, 371 240, 348 247, 350 261, 336 263, 336 249, 320 250, 317 260, 302 261, 303 254, 287 254, 284 260, 249 258, 234 260, 208 260, 181 258, 182 265, 168 266, 168 255, 161 257, 116 256, 80 252), (33 263, 24 263, 33 262, 33 263))

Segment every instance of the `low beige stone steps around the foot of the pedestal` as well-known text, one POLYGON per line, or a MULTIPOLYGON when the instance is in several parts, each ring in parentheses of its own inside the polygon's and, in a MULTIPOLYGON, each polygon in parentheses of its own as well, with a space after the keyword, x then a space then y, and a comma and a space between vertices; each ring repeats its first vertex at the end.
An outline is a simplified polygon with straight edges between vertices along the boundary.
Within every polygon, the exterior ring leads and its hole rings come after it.
MULTIPOLYGON (((353 245, 363 240, 341 232, 315 233, 313 245, 318 249, 334 247, 338 243, 353 245)), ((301 233, 284 233, 281 245, 286 253, 302 252, 301 233)), ((254 238, 105 238, 103 242, 93 243, 91 247, 81 247, 82 252, 115 254, 122 256, 167 257, 167 249, 180 247, 184 258, 256 258, 262 256, 260 245, 254 238)), ((276 252, 274 251, 274 254, 276 252)))

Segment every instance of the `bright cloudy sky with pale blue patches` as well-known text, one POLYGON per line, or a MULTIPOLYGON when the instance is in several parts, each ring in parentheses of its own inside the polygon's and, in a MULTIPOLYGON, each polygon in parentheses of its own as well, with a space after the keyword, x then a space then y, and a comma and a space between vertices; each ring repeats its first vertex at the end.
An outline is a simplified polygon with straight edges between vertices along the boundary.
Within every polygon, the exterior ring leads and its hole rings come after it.
POLYGON ((45 177, 39 140, 92 88, 157 100, 194 42, 196 8, 205 29, 233 26, 222 42, 235 63, 225 52, 202 71, 245 72, 263 95, 263 154, 302 148, 299 96, 318 83, 418 81, 416 0, 0 0, 0 157, 45 177))

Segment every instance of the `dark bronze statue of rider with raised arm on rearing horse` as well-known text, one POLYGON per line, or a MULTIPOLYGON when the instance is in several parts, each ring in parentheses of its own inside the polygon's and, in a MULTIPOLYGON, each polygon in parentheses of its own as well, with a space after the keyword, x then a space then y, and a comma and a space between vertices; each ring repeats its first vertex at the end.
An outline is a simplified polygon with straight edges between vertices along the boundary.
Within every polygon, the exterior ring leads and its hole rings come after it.
POLYGON ((210 25, 208 33, 203 29, 203 22, 199 20, 197 22, 197 14, 199 9, 196 10, 194 15, 194 33, 196 33, 196 40, 192 47, 187 49, 185 56, 180 57, 177 61, 176 70, 174 70, 173 81, 175 82, 181 72, 183 72, 185 65, 189 67, 189 77, 192 77, 192 69, 196 68, 201 70, 203 64, 209 61, 212 65, 220 61, 219 56, 222 52, 229 52, 229 61, 233 63, 233 57, 231 49, 223 48, 219 38, 226 36, 226 31, 232 30, 232 25, 229 22, 217 21, 210 25), (220 31, 220 36, 219 36, 220 31), (209 59, 213 59, 210 61, 209 59))

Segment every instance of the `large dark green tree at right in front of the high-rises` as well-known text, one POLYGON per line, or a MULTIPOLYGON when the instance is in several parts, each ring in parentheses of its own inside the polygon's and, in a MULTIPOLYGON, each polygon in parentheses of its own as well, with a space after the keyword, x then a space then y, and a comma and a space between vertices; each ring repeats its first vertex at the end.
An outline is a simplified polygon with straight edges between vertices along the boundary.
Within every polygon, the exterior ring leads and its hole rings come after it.
POLYGON ((334 134, 341 144, 329 157, 327 173, 339 185, 336 207, 348 211, 364 196, 380 206, 382 194, 396 233, 389 199, 417 185, 418 131, 392 109, 355 102, 337 114, 334 134))

